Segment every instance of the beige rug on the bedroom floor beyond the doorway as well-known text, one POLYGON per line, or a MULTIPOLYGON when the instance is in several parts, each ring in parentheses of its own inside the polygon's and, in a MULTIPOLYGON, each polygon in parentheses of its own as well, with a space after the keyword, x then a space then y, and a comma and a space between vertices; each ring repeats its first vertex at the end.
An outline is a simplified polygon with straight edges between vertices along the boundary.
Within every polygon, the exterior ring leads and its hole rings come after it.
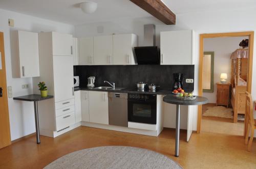
MULTIPOLYGON (((203 113, 204 117, 219 117, 219 118, 226 118, 226 119, 233 119, 233 109, 232 108, 226 108, 224 106, 215 106, 215 107, 209 107, 207 110, 203 113)), ((238 115, 238 120, 244 120, 243 115, 238 115)))

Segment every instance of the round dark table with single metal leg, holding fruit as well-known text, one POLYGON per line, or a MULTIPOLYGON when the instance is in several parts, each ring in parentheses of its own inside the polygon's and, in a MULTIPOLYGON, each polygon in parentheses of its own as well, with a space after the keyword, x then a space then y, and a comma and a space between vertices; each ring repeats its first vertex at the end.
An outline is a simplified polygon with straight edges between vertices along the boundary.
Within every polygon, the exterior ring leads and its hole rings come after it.
POLYGON ((176 104, 176 136, 175 136, 175 156, 179 157, 179 141, 180 141, 180 105, 202 105, 208 103, 205 97, 197 96, 195 100, 180 100, 176 95, 167 95, 163 101, 170 104, 176 104))

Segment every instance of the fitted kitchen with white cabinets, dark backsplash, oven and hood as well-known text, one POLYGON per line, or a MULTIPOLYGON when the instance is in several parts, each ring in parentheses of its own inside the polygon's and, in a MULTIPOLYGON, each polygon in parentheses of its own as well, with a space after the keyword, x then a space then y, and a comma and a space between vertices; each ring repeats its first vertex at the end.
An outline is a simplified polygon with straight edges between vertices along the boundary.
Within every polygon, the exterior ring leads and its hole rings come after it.
MULTIPOLYGON (((33 77, 33 91, 38 93, 36 85, 44 81, 48 94, 54 95, 54 99, 38 102, 40 134, 56 137, 82 125, 158 136, 163 127, 175 128, 175 112, 168 112, 175 110, 175 105, 164 103, 163 97, 172 94, 174 83, 175 89, 194 91, 194 33, 161 32, 159 49, 155 46, 155 25, 144 25, 144 33, 147 47, 138 46, 135 34, 72 38, 39 33, 40 76, 33 77), (188 43, 170 47, 177 42, 175 36, 188 43), (179 51, 187 54, 187 65, 166 57, 179 51), (181 73, 181 81, 174 81, 174 73, 181 73)), ((181 106, 181 129, 187 130, 187 142, 193 131, 193 108, 189 107, 181 106)))

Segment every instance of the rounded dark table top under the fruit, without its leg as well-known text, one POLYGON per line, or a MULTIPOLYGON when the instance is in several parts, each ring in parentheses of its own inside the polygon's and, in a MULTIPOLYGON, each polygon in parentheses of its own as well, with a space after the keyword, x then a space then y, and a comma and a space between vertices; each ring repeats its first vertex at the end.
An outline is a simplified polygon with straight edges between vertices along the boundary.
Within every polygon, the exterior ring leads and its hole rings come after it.
POLYGON ((195 100, 180 100, 176 98, 176 95, 167 95, 163 98, 163 101, 170 104, 180 105, 201 105, 208 103, 208 99, 205 97, 197 96, 195 100))

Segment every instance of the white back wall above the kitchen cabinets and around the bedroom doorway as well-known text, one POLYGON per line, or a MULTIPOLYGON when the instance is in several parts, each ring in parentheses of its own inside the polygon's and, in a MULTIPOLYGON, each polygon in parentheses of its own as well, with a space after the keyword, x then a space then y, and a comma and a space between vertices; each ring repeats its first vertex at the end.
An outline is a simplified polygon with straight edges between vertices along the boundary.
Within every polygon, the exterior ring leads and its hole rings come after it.
MULTIPOLYGON (((255 9, 241 9, 236 11, 218 10, 207 12, 193 12, 176 15, 176 25, 164 25, 155 18, 122 19, 115 22, 102 22, 90 25, 75 26, 76 37, 110 35, 112 33, 135 33, 139 36, 139 45, 143 44, 143 24, 156 24, 156 43, 160 44, 160 31, 194 30, 195 31, 195 93, 198 93, 198 62, 199 35, 206 33, 256 31, 255 9), (246 16, 245 16, 246 14, 246 16), (97 26, 103 26, 104 32, 97 33, 97 26)), ((255 39, 255 37, 254 37, 255 39)), ((256 43, 254 43, 256 53, 256 43)), ((256 100, 256 59, 253 60, 252 97, 256 100)), ((197 129, 197 106, 194 107, 193 130, 197 129)))

